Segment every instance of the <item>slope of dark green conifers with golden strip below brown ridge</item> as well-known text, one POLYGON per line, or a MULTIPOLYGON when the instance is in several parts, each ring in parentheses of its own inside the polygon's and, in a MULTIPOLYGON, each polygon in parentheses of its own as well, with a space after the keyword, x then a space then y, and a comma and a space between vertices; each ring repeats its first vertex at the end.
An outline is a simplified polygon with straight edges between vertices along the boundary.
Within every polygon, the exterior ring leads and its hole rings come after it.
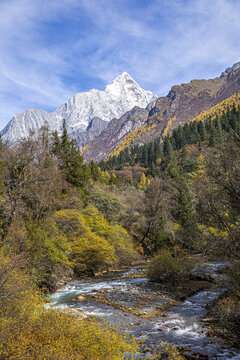
POLYGON ((239 128, 239 95, 231 98, 203 112, 191 122, 179 125, 178 128, 166 131, 163 138, 156 138, 143 146, 125 147, 119 155, 110 155, 105 161, 100 162, 102 169, 117 169, 124 164, 141 164, 150 169, 155 175, 156 166, 172 160, 173 152, 179 151, 188 145, 198 144, 199 150, 208 142, 209 147, 227 140, 227 134, 235 132, 240 134, 239 128))

